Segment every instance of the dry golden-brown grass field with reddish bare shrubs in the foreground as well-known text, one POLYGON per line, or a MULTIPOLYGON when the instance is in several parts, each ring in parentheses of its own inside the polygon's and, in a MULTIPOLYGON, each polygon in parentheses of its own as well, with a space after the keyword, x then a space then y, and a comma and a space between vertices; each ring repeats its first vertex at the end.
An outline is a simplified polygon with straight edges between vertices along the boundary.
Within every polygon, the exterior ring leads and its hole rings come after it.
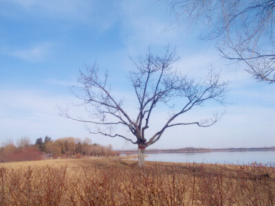
POLYGON ((0 164, 0 205, 275 205, 275 170, 263 165, 121 158, 0 164))

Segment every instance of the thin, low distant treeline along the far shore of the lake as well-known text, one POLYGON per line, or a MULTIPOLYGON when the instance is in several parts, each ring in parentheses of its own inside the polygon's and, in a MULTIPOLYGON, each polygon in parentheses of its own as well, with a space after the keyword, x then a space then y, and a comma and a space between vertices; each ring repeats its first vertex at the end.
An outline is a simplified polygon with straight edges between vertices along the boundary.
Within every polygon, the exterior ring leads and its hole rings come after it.
MULTIPOLYGON (((166 150, 159 150, 159 149, 151 149, 145 150, 147 154, 150 153, 191 153, 191 152, 245 152, 245 151, 271 151, 275 150, 275 147, 265 147, 265 148, 220 148, 220 149, 210 149, 210 148, 179 148, 179 149, 166 149, 166 150)), ((119 150, 121 154, 135 154, 137 150, 119 150)))

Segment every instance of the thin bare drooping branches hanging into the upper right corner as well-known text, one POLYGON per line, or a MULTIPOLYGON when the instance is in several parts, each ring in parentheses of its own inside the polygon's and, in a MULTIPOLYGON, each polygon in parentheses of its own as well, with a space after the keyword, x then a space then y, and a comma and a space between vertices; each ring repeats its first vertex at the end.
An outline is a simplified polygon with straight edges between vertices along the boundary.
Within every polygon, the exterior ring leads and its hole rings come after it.
POLYGON ((275 0, 168 2, 179 25, 203 23, 201 38, 217 39, 221 56, 239 62, 258 81, 275 82, 275 0))

